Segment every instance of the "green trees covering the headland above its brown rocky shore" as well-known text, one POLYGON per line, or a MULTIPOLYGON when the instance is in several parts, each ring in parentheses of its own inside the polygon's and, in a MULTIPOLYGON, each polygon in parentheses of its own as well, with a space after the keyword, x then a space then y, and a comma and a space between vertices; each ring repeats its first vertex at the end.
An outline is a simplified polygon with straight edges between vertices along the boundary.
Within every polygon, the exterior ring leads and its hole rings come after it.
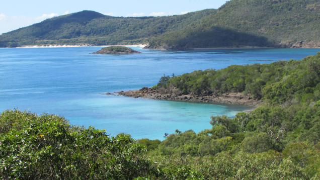
POLYGON ((320 98, 319 69, 320 53, 317 53, 303 60, 231 65, 220 70, 164 76, 153 88, 177 88, 182 94, 190 95, 239 92, 275 104, 291 100, 310 102, 320 98))

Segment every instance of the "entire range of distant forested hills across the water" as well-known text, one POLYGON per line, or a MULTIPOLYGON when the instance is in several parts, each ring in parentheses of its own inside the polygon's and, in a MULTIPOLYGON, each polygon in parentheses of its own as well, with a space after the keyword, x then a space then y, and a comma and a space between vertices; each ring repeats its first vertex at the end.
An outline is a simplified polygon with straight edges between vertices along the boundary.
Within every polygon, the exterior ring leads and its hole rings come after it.
POLYGON ((111 17, 83 11, 0 35, 0 47, 148 43, 147 48, 320 47, 318 0, 231 0, 166 17, 111 17), (210 8, 210 7, 208 7, 210 8))

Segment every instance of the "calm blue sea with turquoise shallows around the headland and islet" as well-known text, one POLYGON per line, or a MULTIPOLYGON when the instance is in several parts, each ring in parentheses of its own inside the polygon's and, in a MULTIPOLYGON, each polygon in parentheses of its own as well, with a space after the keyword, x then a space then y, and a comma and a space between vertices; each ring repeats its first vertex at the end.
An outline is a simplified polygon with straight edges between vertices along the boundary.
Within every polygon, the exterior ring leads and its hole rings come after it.
POLYGON ((106 96, 152 86, 163 75, 231 64, 302 59, 320 49, 144 50, 141 54, 90 54, 101 47, 0 49, 0 111, 57 114, 74 125, 106 129, 112 136, 163 140, 165 132, 211 128, 210 116, 234 116, 243 106, 106 96))

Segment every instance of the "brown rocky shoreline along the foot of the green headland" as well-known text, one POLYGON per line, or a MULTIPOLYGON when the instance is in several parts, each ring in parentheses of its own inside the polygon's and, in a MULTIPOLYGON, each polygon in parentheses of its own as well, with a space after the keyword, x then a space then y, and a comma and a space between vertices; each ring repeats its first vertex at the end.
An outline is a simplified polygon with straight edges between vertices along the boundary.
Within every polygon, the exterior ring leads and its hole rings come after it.
MULTIPOLYGON (((242 93, 228 93, 222 95, 181 95, 175 91, 166 93, 158 93, 154 89, 143 87, 135 91, 115 92, 120 96, 133 97, 133 98, 146 98, 153 100, 166 100, 166 101, 183 101, 195 103, 221 103, 221 104, 235 104, 257 107, 262 103, 262 100, 256 100, 245 96, 242 93)), ((107 93, 106 95, 115 95, 107 93)))

